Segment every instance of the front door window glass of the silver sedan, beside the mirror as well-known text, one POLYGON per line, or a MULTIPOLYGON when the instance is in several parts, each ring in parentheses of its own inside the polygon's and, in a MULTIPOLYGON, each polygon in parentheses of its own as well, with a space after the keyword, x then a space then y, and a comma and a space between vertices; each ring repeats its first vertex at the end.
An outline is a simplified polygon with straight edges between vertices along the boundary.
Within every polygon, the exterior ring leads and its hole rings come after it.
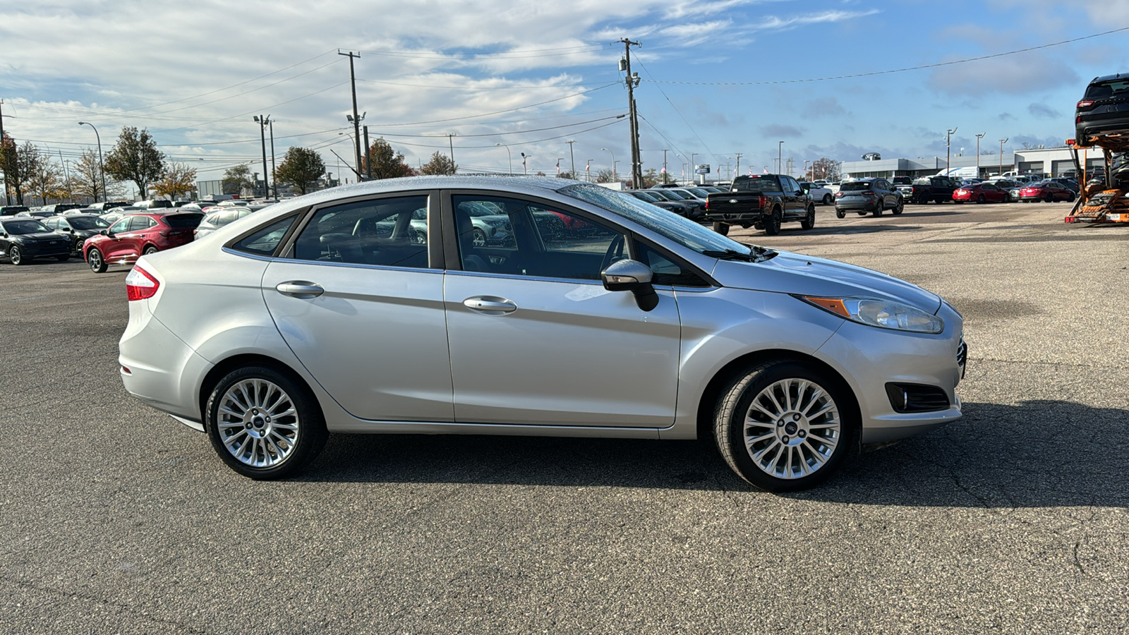
POLYGON ((623 234, 572 211, 504 197, 452 197, 465 271, 598 280, 623 234), (493 214, 475 216, 478 210, 493 214))

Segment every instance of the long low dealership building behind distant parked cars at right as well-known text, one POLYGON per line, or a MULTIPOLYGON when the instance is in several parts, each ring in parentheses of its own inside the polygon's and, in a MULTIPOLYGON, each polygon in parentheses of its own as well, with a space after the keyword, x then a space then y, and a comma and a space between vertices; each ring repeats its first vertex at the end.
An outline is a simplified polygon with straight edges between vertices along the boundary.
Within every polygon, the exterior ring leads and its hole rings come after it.
MULTIPOLYGON (((1030 148, 1005 153, 1000 155, 981 155, 980 171, 981 177, 994 176, 1004 172, 1023 172, 1030 174, 1049 174, 1059 176, 1064 172, 1074 169, 1073 150, 1064 146, 1061 148, 1030 148)), ((952 157, 952 168, 975 168, 975 155, 955 155, 952 157)), ((1105 164, 1101 151, 1089 151, 1086 156, 1087 172, 1105 164)), ((940 157, 930 158, 894 158, 877 160, 847 160, 839 168, 843 177, 861 179, 865 176, 881 176, 891 179, 893 176, 930 176, 945 169, 945 159, 940 157)), ((971 173, 969 173, 971 175, 971 173)))

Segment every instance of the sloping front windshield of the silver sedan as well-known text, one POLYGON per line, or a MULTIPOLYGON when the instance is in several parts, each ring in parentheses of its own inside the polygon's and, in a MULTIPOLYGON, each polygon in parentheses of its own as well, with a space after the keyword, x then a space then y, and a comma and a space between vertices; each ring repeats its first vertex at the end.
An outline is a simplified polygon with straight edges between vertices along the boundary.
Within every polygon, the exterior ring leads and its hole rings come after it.
POLYGON ((662 208, 645 203, 634 197, 601 188, 579 183, 559 190, 561 194, 572 197, 639 225, 698 253, 736 251, 749 253, 749 247, 685 218, 662 208))

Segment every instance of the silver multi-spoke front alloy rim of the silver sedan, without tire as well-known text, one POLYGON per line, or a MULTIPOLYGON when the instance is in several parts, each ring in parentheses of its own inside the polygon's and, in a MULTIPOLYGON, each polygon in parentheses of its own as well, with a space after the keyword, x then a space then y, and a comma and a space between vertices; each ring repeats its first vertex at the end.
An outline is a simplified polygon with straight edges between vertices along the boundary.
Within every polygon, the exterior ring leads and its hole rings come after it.
POLYGON ((781 380, 753 398, 743 437, 761 471, 796 479, 819 471, 831 459, 842 437, 842 420, 822 386, 809 380, 781 380))

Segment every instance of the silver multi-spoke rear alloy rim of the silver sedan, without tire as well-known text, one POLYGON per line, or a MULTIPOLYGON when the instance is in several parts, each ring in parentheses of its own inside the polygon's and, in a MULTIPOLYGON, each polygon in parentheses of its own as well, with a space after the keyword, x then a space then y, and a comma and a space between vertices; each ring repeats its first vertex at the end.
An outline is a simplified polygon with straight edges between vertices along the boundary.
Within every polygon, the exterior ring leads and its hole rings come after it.
POLYGON ((240 463, 270 468, 286 461, 298 443, 300 421, 290 395, 266 380, 231 385, 219 402, 219 437, 240 463))

